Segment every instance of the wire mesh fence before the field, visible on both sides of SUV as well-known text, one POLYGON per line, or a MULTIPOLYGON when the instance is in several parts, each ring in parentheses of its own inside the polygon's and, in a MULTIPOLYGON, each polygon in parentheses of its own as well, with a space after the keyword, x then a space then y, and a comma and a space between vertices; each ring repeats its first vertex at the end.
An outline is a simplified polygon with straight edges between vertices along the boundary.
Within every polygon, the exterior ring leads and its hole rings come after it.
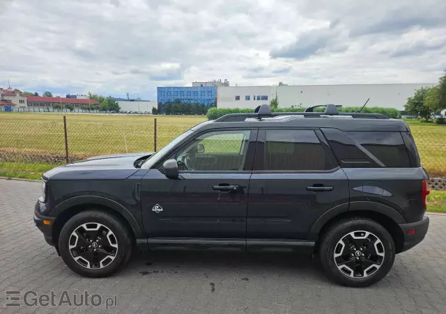
MULTIPOLYGON (((72 119, 0 120, 0 171, 42 172, 55 164, 95 155, 150 152, 165 146, 192 125, 172 125, 157 118, 144 123, 109 123, 72 119)), ((446 126, 412 128, 422 159, 431 176, 446 175, 446 126)))

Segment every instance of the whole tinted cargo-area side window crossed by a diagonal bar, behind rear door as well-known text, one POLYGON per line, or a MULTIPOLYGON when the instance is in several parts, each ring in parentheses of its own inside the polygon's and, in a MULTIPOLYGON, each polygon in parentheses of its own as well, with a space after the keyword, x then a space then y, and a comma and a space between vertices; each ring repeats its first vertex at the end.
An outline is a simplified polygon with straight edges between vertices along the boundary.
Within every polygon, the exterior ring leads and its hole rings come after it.
POLYGON ((408 152, 400 132, 322 130, 344 168, 410 167, 408 152))

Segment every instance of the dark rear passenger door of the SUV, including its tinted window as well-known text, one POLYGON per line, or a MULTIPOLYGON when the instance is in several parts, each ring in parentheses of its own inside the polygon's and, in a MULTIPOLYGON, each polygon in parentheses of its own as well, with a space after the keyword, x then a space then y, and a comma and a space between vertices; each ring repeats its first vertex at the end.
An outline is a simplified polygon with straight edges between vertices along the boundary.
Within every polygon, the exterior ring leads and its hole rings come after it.
POLYGON ((306 240, 314 222, 348 207, 348 180, 318 129, 259 129, 249 185, 250 240, 306 240))

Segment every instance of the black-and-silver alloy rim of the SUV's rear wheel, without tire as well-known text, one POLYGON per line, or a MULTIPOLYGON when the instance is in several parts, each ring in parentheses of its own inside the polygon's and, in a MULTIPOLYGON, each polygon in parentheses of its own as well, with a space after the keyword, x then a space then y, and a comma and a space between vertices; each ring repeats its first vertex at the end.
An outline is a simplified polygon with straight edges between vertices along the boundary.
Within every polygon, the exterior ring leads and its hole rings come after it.
POLYGON ((383 242, 369 231, 347 233, 337 242, 334 262, 339 271, 348 277, 365 278, 376 273, 383 265, 383 242))

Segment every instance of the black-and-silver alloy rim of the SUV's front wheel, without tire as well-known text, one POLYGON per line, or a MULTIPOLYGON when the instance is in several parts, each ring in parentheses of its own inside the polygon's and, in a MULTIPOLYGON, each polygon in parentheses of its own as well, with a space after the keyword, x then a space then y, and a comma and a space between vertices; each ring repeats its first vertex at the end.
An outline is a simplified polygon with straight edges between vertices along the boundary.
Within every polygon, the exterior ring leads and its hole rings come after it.
POLYGON ((102 223, 83 223, 71 233, 68 248, 72 258, 82 267, 100 269, 116 258, 118 240, 102 223))

